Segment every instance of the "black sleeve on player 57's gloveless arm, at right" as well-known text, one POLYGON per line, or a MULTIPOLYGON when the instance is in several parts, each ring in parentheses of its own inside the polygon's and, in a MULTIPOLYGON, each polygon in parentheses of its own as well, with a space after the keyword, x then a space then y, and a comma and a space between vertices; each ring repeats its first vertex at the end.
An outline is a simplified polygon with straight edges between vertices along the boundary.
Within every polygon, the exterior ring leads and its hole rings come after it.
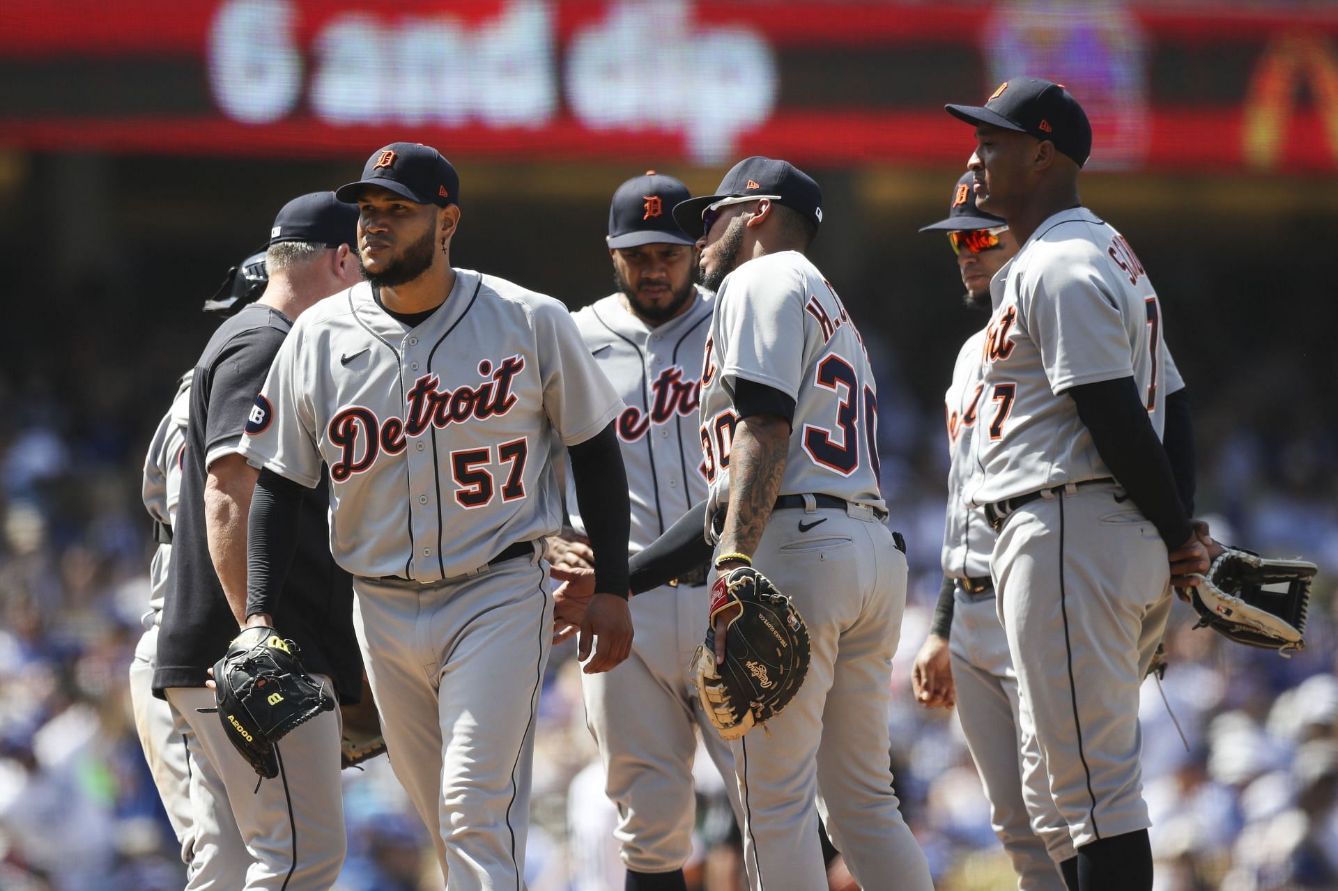
POLYGON ((569 446, 567 454, 577 503, 582 506, 581 519, 594 551, 594 590, 626 597, 632 503, 615 424, 610 421, 586 441, 569 446))

